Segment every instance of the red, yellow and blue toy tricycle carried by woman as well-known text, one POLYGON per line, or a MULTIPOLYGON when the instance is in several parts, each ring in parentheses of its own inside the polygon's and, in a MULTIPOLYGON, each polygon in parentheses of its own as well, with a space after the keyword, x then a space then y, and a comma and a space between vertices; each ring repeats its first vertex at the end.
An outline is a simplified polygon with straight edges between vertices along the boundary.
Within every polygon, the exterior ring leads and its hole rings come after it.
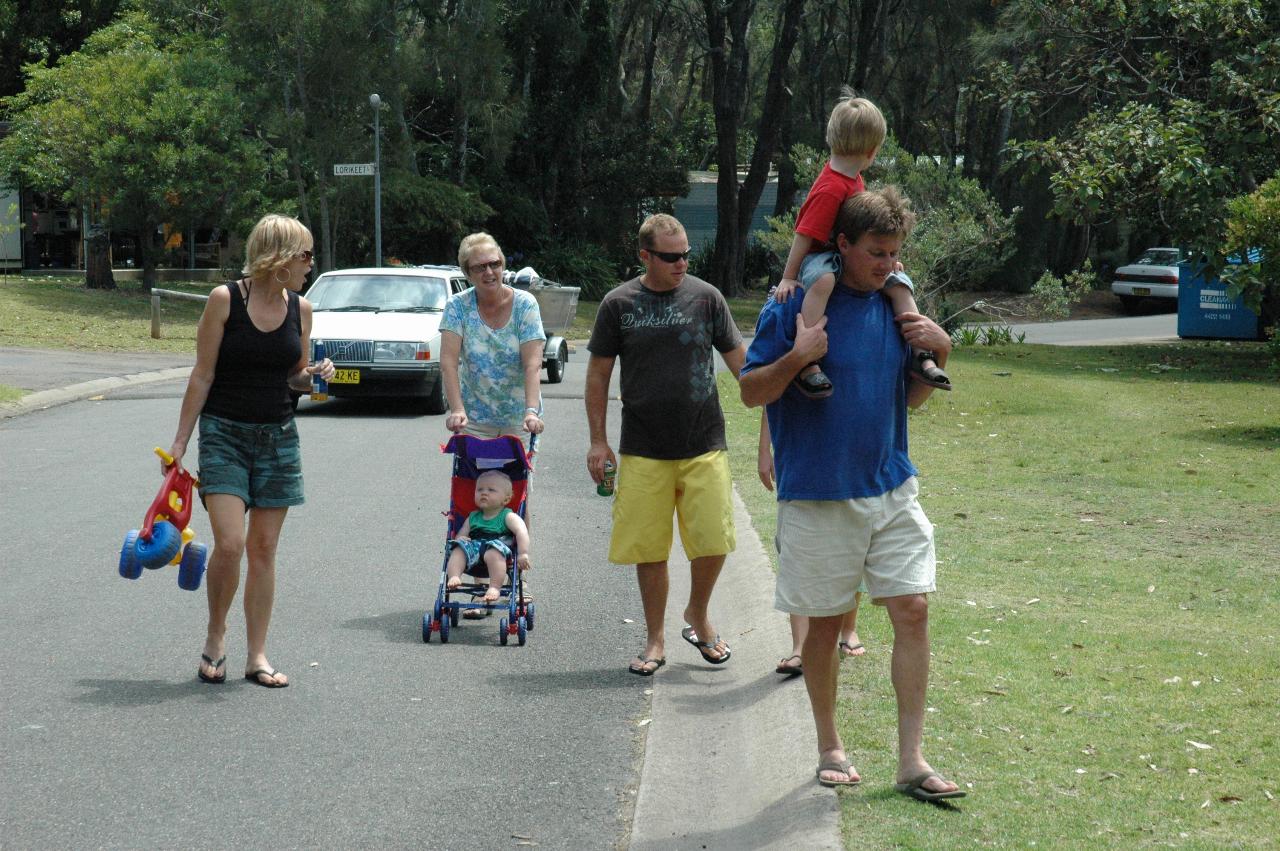
POLYGON ((160 493, 151 500, 142 529, 124 536, 120 549, 120 576, 136 580, 142 568, 154 571, 165 564, 178 566, 178 587, 195 591, 205 576, 209 548, 195 544, 191 523, 191 491, 196 477, 173 462, 173 456, 156 447, 155 453, 168 465, 160 493))

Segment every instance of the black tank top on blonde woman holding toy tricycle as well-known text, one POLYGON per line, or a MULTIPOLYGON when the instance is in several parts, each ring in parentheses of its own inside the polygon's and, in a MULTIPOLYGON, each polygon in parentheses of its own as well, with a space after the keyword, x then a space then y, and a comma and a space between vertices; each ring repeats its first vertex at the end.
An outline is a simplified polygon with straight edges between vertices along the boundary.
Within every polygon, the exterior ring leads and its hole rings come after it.
POLYGON ((289 307, 279 328, 260 331, 248 316, 239 284, 227 287, 232 307, 204 413, 239 422, 284 422, 293 416, 289 372, 302 357, 298 294, 289 290, 289 307))

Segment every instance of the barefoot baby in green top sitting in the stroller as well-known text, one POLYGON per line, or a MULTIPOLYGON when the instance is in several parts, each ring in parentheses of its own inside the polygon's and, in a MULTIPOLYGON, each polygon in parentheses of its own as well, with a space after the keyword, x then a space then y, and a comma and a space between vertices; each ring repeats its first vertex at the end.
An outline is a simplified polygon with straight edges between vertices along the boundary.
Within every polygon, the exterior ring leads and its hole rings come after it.
POLYGON ((484 601, 493 603, 502 596, 502 587, 507 584, 508 558, 515 555, 516 569, 529 569, 529 527, 520 514, 507 508, 511 498, 512 484, 507 473, 486 470, 476 476, 476 511, 467 516, 457 537, 447 545, 448 590, 462 586, 463 573, 481 575, 483 566, 489 575, 484 601))

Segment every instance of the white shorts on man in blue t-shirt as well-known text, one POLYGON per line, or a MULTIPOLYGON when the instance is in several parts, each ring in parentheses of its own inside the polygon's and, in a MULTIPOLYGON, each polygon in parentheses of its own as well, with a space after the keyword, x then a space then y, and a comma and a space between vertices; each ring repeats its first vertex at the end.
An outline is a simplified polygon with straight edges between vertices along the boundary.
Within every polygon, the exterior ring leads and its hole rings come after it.
POLYGON ((936 590, 933 523, 919 493, 913 476, 879 497, 778 500, 773 608, 844 614, 864 580, 873 601, 936 590))

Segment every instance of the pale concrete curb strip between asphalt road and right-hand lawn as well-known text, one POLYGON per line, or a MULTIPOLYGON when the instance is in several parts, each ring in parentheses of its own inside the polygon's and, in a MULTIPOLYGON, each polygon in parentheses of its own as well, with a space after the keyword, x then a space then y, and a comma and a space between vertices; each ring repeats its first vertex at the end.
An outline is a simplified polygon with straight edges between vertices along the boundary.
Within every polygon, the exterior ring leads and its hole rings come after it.
POLYGON ((737 550, 716 585, 712 619, 733 656, 719 667, 680 637, 689 562, 675 548, 667 665, 653 677, 631 851, 842 847, 840 802, 814 781, 818 740, 801 678, 773 672, 791 648, 773 609, 773 569, 733 494, 737 550))

